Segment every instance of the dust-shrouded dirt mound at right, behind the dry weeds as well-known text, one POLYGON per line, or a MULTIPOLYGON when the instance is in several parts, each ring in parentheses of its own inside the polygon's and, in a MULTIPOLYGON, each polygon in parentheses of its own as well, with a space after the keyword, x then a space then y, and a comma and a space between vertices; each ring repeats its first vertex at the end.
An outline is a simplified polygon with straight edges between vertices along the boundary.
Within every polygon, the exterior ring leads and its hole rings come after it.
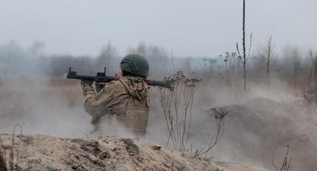
POLYGON ((292 168, 317 170, 316 115, 302 100, 277 102, 255 98, 220 108, 229 111, 222 145, 231 146, 230 161, 257 163, 270 170, 276 147, 275 163, 282 163, 287 145, 292 154, 292 168), (242 157, 243 156, 243 157, 242 157), (262 163, 259 163, 261 161, 262 163))

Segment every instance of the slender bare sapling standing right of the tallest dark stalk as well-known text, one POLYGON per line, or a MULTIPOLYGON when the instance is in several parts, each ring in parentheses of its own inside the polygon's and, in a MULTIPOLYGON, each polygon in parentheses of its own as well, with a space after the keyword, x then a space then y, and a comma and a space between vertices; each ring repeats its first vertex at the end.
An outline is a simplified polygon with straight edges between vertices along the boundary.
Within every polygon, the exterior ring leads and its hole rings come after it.
POLYGON ((272 43, 272 35, 270 35, 268 37, 268 40, 266 40, 266 45, 260 57, 266 66, 266 74, 267 74, 268 90, 269 90, 270 89, 270 70, 272 69, 276 59, 278 58, 278 54, 275 51, 275 44, 272 43))

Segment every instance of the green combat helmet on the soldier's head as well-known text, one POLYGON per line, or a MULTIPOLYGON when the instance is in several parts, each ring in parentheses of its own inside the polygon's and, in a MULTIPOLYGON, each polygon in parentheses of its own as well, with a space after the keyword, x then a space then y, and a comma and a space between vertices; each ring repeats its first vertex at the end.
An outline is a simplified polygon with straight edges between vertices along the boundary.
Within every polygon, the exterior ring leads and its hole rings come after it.
POLYGON ((128 54, 120 62, 122 71, 138 75, 143 78, 149 76, 149 62, 139 54, 128 54))

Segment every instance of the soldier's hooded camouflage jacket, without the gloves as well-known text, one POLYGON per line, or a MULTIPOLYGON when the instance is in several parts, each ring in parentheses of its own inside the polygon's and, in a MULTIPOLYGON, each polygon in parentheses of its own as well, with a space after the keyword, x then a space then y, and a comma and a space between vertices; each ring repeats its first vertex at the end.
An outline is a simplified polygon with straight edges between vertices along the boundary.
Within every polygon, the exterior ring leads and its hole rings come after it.
POLYGON ((111 81, 97 94, 94 91, 87 93, 84 110, 93 117, 92 124, 104 116, 106 109, 111 109, 112 114, 121 118, 138 120, 126 120, 126 125, 130 127, 146 127, 149 112, 148 85, 141 77, 127 75, 111 81), (136 123, 131 122, 143 124, 135 126, 136 123))

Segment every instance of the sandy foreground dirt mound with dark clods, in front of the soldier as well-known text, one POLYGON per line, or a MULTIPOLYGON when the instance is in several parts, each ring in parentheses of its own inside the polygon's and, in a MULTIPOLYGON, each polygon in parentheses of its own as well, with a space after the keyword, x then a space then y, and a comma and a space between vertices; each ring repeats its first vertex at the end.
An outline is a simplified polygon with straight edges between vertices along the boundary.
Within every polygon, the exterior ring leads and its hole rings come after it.
MULTIPOLYGON (((6 152, 6 158, 9 159, 12 135, 2 134, 0 139, 1 150, 6 152)), ((17 149, 19 154, 18 168, 23 171, 215 171, 217 168, 226 171, 267 171, 244 164, 208 163, 193 153, 170 151, 153 143, 129 138, 62 139, 42 135, 17 135, 14 142, 14 154, 16 155, 17 149)))

